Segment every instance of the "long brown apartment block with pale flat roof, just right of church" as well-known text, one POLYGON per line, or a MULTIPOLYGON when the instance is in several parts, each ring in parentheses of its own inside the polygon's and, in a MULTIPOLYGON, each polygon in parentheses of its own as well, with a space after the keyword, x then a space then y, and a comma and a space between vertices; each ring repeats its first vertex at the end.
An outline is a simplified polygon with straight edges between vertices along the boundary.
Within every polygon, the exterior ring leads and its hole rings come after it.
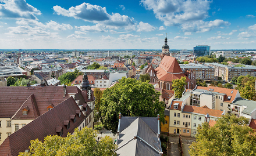
POLYGON ((202 64, 180 64, 180 68, 183 69, 183 73, 189 77, 189 79, 215 79, 215 68, 211 66, 204 66, 202 64))

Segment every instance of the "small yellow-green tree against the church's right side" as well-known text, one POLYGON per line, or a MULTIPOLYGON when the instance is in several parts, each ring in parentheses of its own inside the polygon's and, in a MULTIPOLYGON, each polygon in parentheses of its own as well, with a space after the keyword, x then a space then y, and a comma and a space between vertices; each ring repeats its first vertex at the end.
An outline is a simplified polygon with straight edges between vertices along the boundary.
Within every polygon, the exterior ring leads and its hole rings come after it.
POLYGON ((186 81, 186 77, 181 77, 180 79, 174 79, 172 81, 172 90, 175 91, 175 98, 182 97, 182 93, 185 90, 185 85, 187 85, 186 81))

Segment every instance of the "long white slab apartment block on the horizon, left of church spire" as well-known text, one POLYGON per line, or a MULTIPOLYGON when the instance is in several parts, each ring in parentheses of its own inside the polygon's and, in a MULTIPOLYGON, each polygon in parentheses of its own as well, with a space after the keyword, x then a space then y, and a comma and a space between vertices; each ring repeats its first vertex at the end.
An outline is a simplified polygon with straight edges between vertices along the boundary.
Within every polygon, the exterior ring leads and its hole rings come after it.
POLYGON ((89 50, 87 56, 94 56, 96 58, 105 58, 107 56, 124 56, 132 57, 138 56, 140 53, 137 50, 89 50))

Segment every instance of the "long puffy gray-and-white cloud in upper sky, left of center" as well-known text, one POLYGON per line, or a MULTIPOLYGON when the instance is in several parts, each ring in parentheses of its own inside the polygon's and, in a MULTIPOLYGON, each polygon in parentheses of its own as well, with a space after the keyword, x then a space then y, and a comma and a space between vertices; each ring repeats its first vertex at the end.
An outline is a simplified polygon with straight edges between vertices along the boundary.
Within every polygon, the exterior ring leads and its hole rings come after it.
POLYGON ((105 7, 102 8, 101 6, 91 5, 90 3, 82 3, 75 7, 72 6, 68 10, 56 5, 54 6, 54 11, 62 16, 91 21, 102 26, 109 26, 109 28, 126 27, 134 24, 128 16, 119 13, 108 14, 105 7))

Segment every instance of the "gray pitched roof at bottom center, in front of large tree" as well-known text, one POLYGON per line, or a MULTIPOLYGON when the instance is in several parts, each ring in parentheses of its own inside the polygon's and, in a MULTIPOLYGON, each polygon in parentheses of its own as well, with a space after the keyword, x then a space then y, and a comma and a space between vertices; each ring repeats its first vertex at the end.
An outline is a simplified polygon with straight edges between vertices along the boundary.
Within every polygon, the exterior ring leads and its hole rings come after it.
POLYGON ((160 155, 161 144, 157 143, 158 133, 157 118, 147 117, 121 117, 120 134, 118 139, 117 155, 160 155), (145 144, 138 137, 133 139, 134 135, 145 140, 153 148, 145 144), (129 143, 127 143, 130 140, 129 143), (125 144, 127 143, 127 144, 125 144), (125 146, 122 146, 125 144, 125 146))

